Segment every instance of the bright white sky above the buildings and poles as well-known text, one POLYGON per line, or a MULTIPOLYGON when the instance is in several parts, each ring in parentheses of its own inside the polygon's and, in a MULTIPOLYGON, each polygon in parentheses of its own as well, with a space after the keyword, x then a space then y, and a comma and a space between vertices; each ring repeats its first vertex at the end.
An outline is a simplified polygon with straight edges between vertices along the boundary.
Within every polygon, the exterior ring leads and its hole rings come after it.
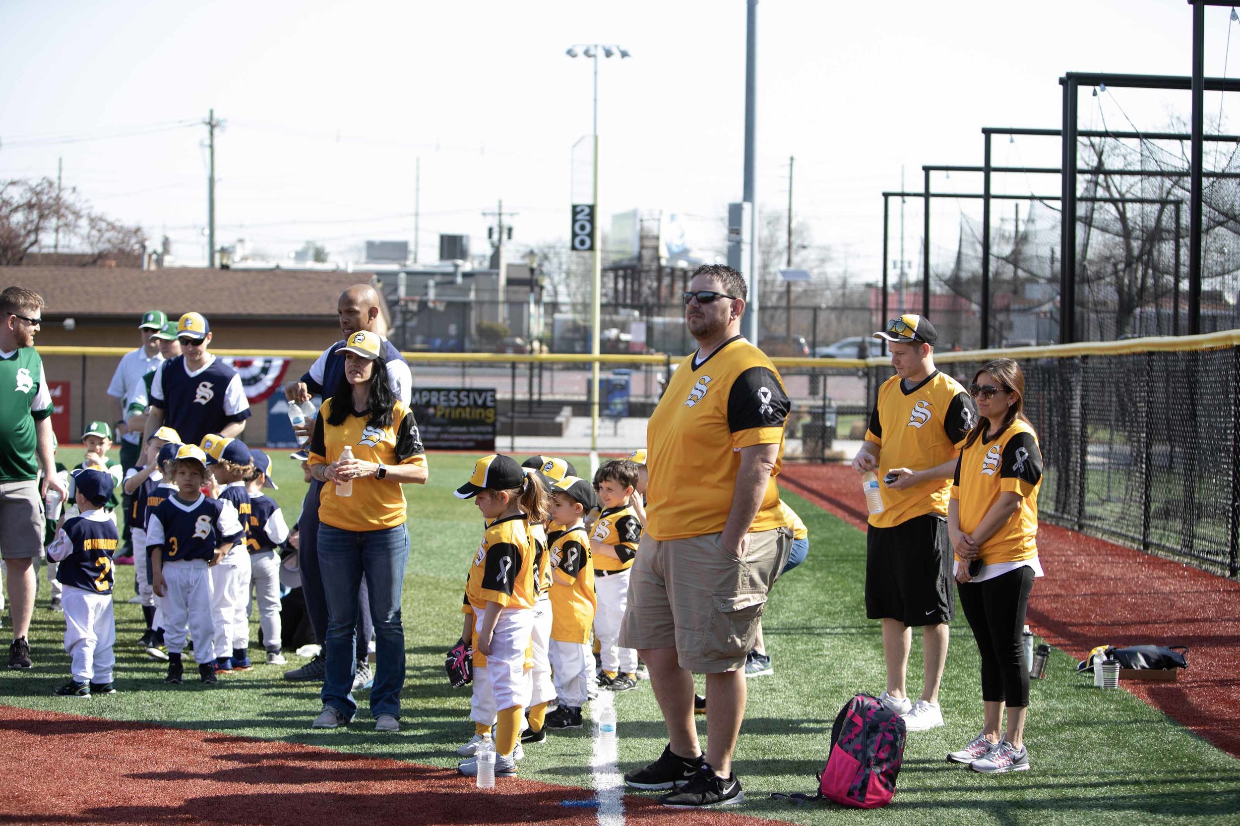
MULTIPOLYGON (((244 237, 283 255, 306 239, 335 253, 366 238, 412 241, 420 156, 422 260, 436 257, 439 232, 470 233, 485 249, 482 212, 498 198, 520 213, 520 253, 567 241, 569 151, 590 131, 591 77, 564 50, 603 41, 632 52, 600 61, 603 213, 722 217, 740 198, 744 0, 187 5, 0 0, 0 177, 55 177, 63 158, 67 186, 202 259, 206 128, 133 133, 193 124, 213 107, 227 122, 219 243, 244 237), (66 136, 92 140, 57 143, 66 136)), ((1226 73, 1240 73, 1240 24, 1228 14, 1207 10, 1208 74, 1224 73, 1225 55, 1226 73)), ((918 190, 921 164, 980 164, 983 125, 1058 128, 1065 71, 1188 74, 1190 22, 1183 0, 765 0, 759 202, 782 208, 795 155, 795 211, 836 267, 847 258, 854 279, 877 280, 879 192, 898 189, 901 164, 918 190)), ((1219 105, 1207 95, 1210 118, 1219 105)), ((1161 129, 1188 107, 1187 92, 1086 93, 1081 123, 1161 129)), ((1058 159, 1058 139, 996 144, 996 164, 1058 159)), ((1058 179, 1034 186, 1058 192, 1058 179)), ((935 207, 936 247, 955 243, 945 222, 960 208, 935 207)), ((908 221, 915 259, 915 202, 908 221)))

